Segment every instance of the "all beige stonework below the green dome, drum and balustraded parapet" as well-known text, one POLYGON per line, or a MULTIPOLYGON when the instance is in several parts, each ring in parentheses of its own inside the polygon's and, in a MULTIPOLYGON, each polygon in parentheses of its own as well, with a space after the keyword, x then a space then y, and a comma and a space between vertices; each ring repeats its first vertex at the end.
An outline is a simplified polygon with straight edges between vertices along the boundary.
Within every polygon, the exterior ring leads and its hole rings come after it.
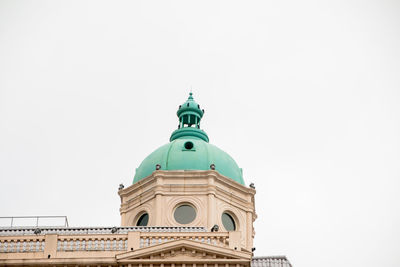
POLYGON ((121 225, 135 226, 148 213, 147 226, 208 231, 0 236, 0 266, 249 267, 254 194, 216 171, 155 171, 119 191, 121 225), (196 210, 191 223, 175 220, 180 204, 196 210), (234 218, 236 231, 224 229, 224 212, 234 218), (214 225, 218 232, 210 231, 214 225))

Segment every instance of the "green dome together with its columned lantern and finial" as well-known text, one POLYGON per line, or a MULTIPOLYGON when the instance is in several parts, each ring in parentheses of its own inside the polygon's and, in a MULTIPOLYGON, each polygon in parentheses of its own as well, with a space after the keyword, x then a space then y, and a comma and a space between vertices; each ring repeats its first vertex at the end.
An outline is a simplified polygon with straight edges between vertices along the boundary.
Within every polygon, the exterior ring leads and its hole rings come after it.
POLYGON ((242 169, 224 151, 208 143, 207 134, 200 129, 204 110, 200 109, 190 93, 188 100, 179 106, 179 126, 170 143, 158 148, 143 160, 136 169, 133 183, 160 170, 210 170, 244 185, 242 169), (213 166, 211 166, 213 165, 213 166))

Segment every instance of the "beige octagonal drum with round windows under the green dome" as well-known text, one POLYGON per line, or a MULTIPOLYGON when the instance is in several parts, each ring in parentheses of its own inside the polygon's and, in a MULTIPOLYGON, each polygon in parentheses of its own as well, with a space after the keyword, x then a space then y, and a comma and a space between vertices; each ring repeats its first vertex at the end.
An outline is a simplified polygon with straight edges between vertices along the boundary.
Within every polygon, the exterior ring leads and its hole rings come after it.
POLYGON ((148 226, 201 226, 224 229, 221 216, 229 213, 241 234, 241 248, 253 246, 255 190, 220 175, 217 171, 155 171, 151 176, 119 191, 121 225, 135 226, 143 213, 148 226), (189 204, 197 216, 189 224, 174 219, 174 210, 189 204))

